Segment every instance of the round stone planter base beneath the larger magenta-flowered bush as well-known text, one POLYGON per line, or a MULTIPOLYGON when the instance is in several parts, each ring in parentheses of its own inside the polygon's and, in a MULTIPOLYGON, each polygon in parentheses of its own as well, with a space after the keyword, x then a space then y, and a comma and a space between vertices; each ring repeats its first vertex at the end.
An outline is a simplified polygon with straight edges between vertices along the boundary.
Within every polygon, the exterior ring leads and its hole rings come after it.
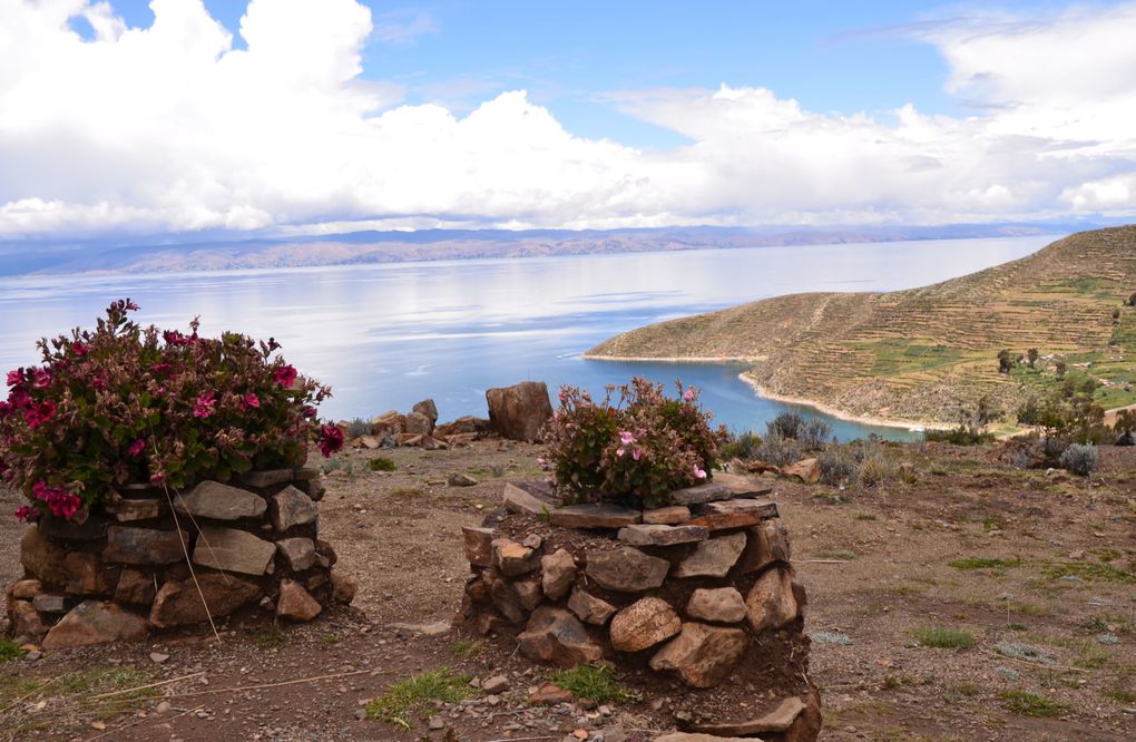
POLYGON ((335 551, 317 537, 319 476, 250 472, 168 497, 126 485, 82 524, 41 519, 20 540, 24 578, 8 593, 12 635, 60 649, 140 640, 257 605, 310 620, 350 602, 354 581, 332 572, 335 551))

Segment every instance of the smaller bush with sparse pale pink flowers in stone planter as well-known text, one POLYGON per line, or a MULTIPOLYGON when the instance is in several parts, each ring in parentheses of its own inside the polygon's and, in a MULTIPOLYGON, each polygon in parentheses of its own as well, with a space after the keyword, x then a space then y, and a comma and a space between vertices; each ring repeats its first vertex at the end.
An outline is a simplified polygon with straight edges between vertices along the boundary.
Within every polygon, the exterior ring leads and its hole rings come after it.
POLYGON ((710 414, 693 387, 678 384, 678 399, 642 377, 609 387, 596 402, 578 389, 560 390, 560 408, 544 433, 544 460, 568 501, 610 501, 635 507, 666 505, 676 489, 710 478, 725 428, 710 428, 710 414))

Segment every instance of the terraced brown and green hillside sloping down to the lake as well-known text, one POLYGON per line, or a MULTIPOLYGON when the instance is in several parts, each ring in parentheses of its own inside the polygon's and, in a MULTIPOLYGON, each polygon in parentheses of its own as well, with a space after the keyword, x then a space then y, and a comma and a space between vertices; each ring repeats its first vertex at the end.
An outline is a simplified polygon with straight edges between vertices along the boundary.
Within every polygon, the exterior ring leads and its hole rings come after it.
POLYGON ((994 268, 888 293, 777 297, 618 335, 590 358, 754 361, 763 390, 855 416, 954 423, 987 395, 1012 411, 1092 376, 1106 407, 1136 402, 1136 225, 1083 232, 994 268), (1119 311, 1113 317, 1114 310, 1119 311), (999 373, 997 353, 1037 348, 999 373), (1079 381, 1079 378, 1078 378, 1079 381))

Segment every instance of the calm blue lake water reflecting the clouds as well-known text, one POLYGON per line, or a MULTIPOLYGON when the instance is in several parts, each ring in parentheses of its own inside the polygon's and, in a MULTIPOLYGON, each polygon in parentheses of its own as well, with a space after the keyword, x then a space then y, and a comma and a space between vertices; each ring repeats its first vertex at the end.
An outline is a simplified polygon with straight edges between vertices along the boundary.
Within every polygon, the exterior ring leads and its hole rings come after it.
MULTIPOLYGON (((1056 237, 942 240, 638 255, 469 260, 172 275, 0 281, 0 369, 35 362, 34 342, 91 326, 130 297, 139 318, 274 335, 287 359, 332 385, 323 412, 482 415, 485 390, 523 380, 602 391, 632 375, 703 390, 716 419, 765 428, 787 406, 729 366, 588 361, 580 353, 645 324, 800 291, 925 285, 1024 257, 1056 237)), ((815 415, 809 412, 810 415, 815 415)), ((818 417, 825 417, 815 415, 818 417)), ((841 439, 904 431, 827 419, 841 439)))

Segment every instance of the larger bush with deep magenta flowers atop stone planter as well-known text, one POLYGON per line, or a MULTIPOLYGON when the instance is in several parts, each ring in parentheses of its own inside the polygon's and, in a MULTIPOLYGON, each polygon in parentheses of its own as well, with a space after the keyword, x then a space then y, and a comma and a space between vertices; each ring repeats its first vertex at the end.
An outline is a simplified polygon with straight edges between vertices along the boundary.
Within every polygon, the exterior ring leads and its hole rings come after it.
POLYGON ((39 343, 42 365, 17 368, 0 401, 0 477, 31 501, 16 515, 74 518, 108 487, 183 489, 250 469, 301 464, 315 441, 343 445, 316 419, 331 394, 276 355, 275 340, 218 339, 141 327, 116 301, 92 331, 39 343))

